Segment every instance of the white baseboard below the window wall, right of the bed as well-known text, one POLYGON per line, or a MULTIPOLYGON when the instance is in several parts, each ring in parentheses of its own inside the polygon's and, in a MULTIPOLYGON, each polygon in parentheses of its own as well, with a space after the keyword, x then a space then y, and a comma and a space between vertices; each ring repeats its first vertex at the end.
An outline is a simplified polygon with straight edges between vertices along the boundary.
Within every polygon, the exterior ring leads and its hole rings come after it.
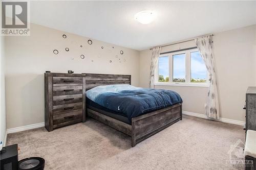
POLYGON ((244 126, 244 124, 245 124, 245 122, 239 121, 239 120, 233 120, 233 119, 222 118, 222 117, 220 117, 220 119, 212 119, 212 118, 207 117, 205 114, 193 113, 193 112, 188 112, 188 111, 182 111, 182 113, 189 115, 189 116, 195 116, 195 117, 215 120, 215 121, 224 122, 224 123, 228 123, 228 124, 234 124, 234 125, 240 125, 240 126, 244 126))

